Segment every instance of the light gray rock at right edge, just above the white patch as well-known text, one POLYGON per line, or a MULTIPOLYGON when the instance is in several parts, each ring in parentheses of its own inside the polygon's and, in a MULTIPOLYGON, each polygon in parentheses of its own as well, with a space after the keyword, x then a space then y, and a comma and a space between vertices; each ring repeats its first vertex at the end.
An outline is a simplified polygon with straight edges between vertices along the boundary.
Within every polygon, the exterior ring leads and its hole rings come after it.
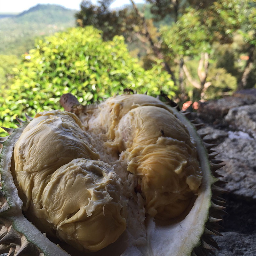
POLYGON ((230 108, 225 121, 236 130, 249 132, 256 138, 256 104, 230 108))

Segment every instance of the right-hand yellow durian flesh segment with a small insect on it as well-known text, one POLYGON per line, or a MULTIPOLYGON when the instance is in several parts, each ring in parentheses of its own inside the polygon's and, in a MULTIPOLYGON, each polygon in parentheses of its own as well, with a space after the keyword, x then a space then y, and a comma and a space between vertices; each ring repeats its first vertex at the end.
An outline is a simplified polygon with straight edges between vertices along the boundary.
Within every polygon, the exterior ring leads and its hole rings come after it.
POLYGON ((127 171, 138 177, 146 211, 158 219, 184 212, 202 173, 196 146, 172 110, 153 97, 135 94, 110 98, 92 113, 81 119, 92 136, 102 134, 108 147, 124 151, 127 171))

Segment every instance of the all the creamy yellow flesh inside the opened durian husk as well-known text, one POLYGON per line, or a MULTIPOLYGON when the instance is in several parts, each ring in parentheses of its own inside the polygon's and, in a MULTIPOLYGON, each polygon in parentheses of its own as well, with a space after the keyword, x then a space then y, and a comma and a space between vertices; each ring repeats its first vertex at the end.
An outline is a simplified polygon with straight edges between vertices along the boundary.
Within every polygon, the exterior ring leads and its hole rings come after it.
POLYGON ((179 217, 200 191, 195 141, 146 95, 113 97, 78 117, 39 113, 20 136, 14 159, 24 210, 79 249, 100 250, 125 230, 131 247, 122 255, 154 253, 154 219, 179 217))

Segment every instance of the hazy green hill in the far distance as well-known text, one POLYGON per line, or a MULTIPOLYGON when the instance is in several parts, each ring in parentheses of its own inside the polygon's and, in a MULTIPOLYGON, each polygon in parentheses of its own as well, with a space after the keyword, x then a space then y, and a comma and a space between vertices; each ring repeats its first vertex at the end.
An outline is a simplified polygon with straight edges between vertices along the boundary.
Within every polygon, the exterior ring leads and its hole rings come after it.
POLYGON ((37 4, 20 14, 0 14, 0 54, 20 56, 34 47, 36 37, 75 26, 76 10, 37 4))

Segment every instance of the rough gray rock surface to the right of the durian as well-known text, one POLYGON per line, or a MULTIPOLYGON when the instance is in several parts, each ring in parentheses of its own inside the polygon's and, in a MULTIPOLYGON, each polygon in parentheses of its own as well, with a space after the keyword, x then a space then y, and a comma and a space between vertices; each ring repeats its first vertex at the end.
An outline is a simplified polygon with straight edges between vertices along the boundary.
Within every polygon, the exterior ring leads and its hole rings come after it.
POLYGON ((231 104, 228 111, 223 111, 223 106, 238 102, 234 97, 223 98, 214 100, 214 104, 205 104, 206 109, 197 113, 205 123, 198 132, 209 133, 204 139, 218 144, 213 148, 220 152, 216 158, 226 164, 219 172, 223 175, 222 180, 228 182, 224 188, 229 193, 223 195, 228 214, 221 223, 223 236, 214 237, 220 247, 214 252, 215 256, 256 256, 256 94, 248 96, 243 92, 238 96, 251 105, 237 107, 231 104), (208 112, 211 104, 216 111, 208 112), (218 106, 221 106, 219 112, 218 106))

